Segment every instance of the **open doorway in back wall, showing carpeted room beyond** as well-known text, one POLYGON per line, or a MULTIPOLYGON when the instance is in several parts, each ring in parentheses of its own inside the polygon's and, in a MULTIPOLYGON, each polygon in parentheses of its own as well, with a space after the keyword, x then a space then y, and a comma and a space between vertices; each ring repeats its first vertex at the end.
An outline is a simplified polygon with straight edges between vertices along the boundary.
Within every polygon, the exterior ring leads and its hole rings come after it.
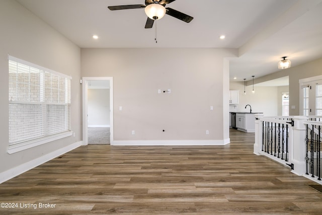
POLYGON ((113 141, 113 78, 84 77, 83 144, 113 141))

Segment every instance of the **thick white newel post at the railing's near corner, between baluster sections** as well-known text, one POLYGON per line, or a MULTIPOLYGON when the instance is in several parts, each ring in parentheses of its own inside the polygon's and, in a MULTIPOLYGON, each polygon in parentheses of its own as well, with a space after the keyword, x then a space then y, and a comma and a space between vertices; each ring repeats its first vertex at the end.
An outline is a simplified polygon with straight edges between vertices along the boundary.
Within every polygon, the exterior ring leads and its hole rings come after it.
POLYGON ((293 137, 292 137, 292 160, 294 164, 294 170, 292 173, 296 175, 305 174, 305 131, 306 127, 303 121, 307 121, 305 116, 295 116, 293 128, 293 137))

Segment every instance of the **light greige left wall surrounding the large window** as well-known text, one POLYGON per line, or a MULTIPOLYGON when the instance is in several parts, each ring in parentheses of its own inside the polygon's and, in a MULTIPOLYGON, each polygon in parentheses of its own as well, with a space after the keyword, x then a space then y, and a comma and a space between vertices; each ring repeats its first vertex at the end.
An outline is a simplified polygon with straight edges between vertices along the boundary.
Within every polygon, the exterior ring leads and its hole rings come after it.
POLYGON ((81 141, 80 49, 16 1, 0 1, 0 173, 81 141), (9 144, 8 53, 72 77, 71 128, 75 137, 34 147, 12 155, 9 144))

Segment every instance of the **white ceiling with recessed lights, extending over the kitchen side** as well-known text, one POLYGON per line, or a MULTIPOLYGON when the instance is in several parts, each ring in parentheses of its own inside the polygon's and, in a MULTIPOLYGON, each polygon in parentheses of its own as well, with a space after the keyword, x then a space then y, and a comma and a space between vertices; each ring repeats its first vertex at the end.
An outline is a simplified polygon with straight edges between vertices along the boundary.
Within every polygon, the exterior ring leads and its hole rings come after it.
POLYGON ((144 9, 107 9, 144 0, 17 1, 81 48, 238 48, 231 81, 274 73, 282 56, 292 66, 322 57, 322 0, 177 0, 166 8, 194 19, 158 20, 157 43, 154 27, 144 29, 144 9))

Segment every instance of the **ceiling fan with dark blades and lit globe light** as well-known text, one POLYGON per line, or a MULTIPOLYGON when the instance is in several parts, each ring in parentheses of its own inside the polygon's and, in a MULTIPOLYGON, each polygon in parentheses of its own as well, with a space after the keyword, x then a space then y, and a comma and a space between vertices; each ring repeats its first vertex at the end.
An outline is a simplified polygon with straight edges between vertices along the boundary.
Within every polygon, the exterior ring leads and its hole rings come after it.
POLYGON ((168 14, 174 18, 189 23, 193 20, 193 17, 176 11, 172 8, 166 8, 167 4, 170 4, 176 0, 145 0, 145 5, 120 5, 120 6, 108 6, 111 11, 126 10, 126 9, 139 9, 145 8, 145 14, 148 16, 145 28, 152 28, 155 20, 161 19, 165 14, 168 14))

